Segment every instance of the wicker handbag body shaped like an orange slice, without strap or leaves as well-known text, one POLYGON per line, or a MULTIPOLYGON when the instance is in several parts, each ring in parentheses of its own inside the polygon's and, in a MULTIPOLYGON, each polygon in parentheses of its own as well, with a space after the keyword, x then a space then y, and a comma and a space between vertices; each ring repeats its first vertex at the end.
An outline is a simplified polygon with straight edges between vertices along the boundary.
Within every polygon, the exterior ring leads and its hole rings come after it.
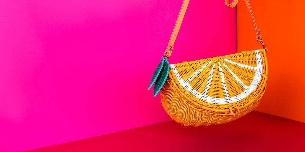
POLYGON ((264 49, 171 64, 162 106, 184 126, 223 124, 253 111, 267 84, 264 49), (233 116, 230 109, 238 116, 233 116))

